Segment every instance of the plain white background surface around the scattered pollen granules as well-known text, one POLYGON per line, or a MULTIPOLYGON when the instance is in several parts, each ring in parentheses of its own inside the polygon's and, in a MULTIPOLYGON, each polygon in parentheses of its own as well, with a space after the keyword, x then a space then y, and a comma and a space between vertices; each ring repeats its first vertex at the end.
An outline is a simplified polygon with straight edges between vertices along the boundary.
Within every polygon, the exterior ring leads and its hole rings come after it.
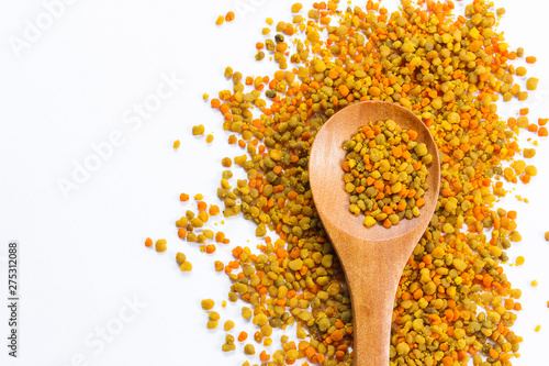
MULTIPOLYGON (((44 5, 0 0, 0 364, 242 365, 242 346, 226 355, 221 351, 222 326, 205 329, 200 300, 216 301, 222 323, 229 318, 237 321, 233 334, 253 330, 237 317, 244 303, 229 303, 226 310, 219 306, 226 299, 229 281, 213 270, 213 262, 226 260, 233 244, 259 243, 253 225, 243 218, 226 220, 223 230, 232 245, 209 256, 178 240, 173 222, 186 210, 178 200, 181 191, 201 192, 209 202, 217 202, 220 160, 242 154, 226 144, 220 115, 202 101, 202 93, 214 96, 229 87, 223 77, 227 65, 270 75, 274 68, 268 62, 253 58, 255 43, 264 40, 260 30, 267 16, 291 19, 292 3, 80 0, 67 5, 52 27, 18 56, 10 37, 23 38, 25 21, 35 23, 44 5), (217 15, 228 10, 236 11, 236 20, 216 26, 217 15), (184 85, 132 130, 124 123, 124 113, 156 91, 161 75, 172 74, 184 85), (206 133, 214 132, 212 144, 190 134, 199 123, 206 133), (90 144, 108 141, 113 131, 123 134, 124 144, 65 199, 57 180, 70 179, 74 164, 82 164, 93 153, 90 144), (181 147, 175 151, 171 145, 177 138, 181 147), (158 254, 146 248, 147 236, 166 237, 168 251, 158 254), (10 240, 19 240, 22 251, 20 357, 15 361, 7 356, 4 336, 10 240), (178 251, 192 262, 192 273, 179 270, 178 251), (138 310, 112 342, 101 350, 85 344, 120 317, 124 299, 135 297, 147 308, 138 310), (79 355, 86 363, 72 362, 79 355)), ((507 8, 502 29, 512 48, 524 46, 527 55, 538 57, 536 66, 528 68, 529 76, 541 79, 538 98, 529 100, 530 117, 549 117, 549 92, 542 91, 549 90, 546 2, 502 0, 496 5, 507 8)), ((506 111, 503 115, 516 115, 518 106, 506 111)), ((542 236, 549 230, 548 159, 546 138, 533 159, 539 175, 527 188, 517 187, 530 203, 519 203, 512 195, 502 203, 518 210, 524 237, 508 251, 511 262, 517 255, 526 257, 522 267, 505 266, 524 293, 525 310, 514 328, 525 339, 522 357, 513 362, 517 366, 547 364, 549 243, 542 236), (533 279, 539 287, 529 285, 533 279), (537 324, 542 325, 539 333, 534 332, 537 324)), ((276 345, 279 336, 273 336, 276 345)))

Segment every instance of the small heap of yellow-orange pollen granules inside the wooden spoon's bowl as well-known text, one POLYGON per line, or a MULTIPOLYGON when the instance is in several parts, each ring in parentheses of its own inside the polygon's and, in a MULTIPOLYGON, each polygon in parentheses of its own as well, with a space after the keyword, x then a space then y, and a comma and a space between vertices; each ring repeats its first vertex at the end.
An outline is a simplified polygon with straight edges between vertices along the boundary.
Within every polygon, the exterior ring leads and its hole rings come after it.
POLYGON ((427 190, 426 165, 433 162, 417 132, 403 130, 394 121, 378 121, 359 130, 344 143, 349 152, 343 163, 349 211, 365 213, 365 225, 384 228, 419 215, 427 190))

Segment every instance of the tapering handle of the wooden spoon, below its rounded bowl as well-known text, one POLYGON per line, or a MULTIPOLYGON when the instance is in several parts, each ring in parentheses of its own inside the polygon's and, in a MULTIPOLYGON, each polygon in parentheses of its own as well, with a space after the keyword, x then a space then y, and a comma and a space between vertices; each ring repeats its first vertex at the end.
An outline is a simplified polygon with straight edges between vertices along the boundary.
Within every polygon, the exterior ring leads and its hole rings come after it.
POLYGON ((352 303, 354 365, 388 366, 394 298, 411 254, 405 243, 416 239, 363 243, 338 233, 336 240, 352 303))

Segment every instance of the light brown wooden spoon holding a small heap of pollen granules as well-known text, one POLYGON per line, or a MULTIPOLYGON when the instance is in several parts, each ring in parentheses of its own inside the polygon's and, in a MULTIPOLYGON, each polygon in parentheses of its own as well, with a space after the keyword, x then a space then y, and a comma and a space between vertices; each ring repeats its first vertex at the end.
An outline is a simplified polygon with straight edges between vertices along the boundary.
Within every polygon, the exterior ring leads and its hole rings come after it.
POLYGON ((396 287, 402 270, 425 232, 437 204, 440 164, 427 126, 411 111, 389 102, 351 104, 334 114, 318 131, 309 162, 313 200, 347 278, 354 317, 354 365, 388 366, 396 287), (366 228, 363 215, 349 211, 341 164, 343 143, 369 122, 393 120, 417 132, 417 142, 433 155, 427 175, 426 204, 412 220, 385 229, 366 228))

